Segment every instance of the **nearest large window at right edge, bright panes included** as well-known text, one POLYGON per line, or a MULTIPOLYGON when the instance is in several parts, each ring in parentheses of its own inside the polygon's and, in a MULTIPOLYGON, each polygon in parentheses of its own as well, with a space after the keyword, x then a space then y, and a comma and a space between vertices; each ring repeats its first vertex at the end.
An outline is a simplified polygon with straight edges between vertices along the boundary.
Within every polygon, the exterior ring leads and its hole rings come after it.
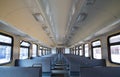
POLYGON ((120 34, 110 36, 108 38, 108 44, 110 61, 120 64, 120 34))

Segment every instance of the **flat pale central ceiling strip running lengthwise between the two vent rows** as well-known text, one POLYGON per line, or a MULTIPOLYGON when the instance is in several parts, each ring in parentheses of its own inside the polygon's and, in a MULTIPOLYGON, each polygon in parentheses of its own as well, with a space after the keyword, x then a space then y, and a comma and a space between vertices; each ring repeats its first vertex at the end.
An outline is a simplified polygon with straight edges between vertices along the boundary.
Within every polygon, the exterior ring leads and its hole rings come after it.
POLYGON ((78 0, 39 0, 54 35, 56 44, 64 44, 71 8, 78 0))

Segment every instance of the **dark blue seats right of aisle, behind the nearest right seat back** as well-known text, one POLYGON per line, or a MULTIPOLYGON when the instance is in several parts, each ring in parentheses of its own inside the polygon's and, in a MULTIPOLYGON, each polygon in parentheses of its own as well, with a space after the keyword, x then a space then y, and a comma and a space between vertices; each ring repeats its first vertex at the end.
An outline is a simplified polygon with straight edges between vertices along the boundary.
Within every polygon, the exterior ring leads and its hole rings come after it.
POLYGON ((105 67, 106 62, 104 59, 89 59, 85 57, 80 57, 73 54, 64 54, 64 59, 69 65, 70 76, 79 76, 80 67, 105 67))

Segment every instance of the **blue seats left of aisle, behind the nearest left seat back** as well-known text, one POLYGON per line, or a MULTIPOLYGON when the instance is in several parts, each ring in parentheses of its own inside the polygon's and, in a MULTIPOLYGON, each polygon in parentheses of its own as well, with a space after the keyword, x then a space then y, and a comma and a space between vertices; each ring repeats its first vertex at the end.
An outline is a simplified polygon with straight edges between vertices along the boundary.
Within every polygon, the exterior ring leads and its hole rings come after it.
POLYGON ((34 65, 42 65, 42 75, 46 77, 51 76, 51 65, 57 54, 51 54, 44 57, 33 57, 31 59, 16 59, 15 66, 18 67, 32 67, 34 65))

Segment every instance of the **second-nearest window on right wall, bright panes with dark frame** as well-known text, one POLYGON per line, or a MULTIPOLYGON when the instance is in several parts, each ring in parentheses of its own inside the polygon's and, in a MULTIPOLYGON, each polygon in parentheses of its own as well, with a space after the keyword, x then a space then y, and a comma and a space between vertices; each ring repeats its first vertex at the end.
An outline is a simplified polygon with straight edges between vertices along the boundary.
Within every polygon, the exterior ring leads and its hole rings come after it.
POLYGON ((101 42, 99 40, 92 42, 92 53, 93 58, 102 59, 101 42))

